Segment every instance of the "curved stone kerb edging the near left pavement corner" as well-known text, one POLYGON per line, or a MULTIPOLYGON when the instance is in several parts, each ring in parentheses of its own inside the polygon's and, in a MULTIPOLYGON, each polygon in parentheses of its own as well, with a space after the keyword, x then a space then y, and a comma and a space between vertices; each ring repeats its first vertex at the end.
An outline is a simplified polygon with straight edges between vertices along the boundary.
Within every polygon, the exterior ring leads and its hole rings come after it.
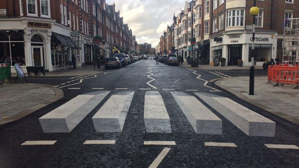
POLYGON ((33 107, 31 107, 27 110, 24 110, 24 111, 22 111, 22 112, 20 112, 16 115, 8 117, 4 120, 0 120, 0 127, 4 126, 4 125, 6 125, 10 122, 17 121, 17 120, 19 120, 19 119, 21 119, 21 118, 23 118, 23 117, 25 117, 29 114, 32 114, 33 112, 35 112, 37 110, 40 110, 41 108, 43 108, 43 107, 45 107, 45 106, 61 99, 61 98, 63 98, 63 96, 64 96, 64 93, 60 88, 51 87, 51 86, 46 85, 46 84, 34 84, 34 85, 43 86, 43 87, 46 87, 46 88, 51 88, 52 90, 54 90, 55 96, 52 99, 45 101, 44 103, 33 106, 33 107))

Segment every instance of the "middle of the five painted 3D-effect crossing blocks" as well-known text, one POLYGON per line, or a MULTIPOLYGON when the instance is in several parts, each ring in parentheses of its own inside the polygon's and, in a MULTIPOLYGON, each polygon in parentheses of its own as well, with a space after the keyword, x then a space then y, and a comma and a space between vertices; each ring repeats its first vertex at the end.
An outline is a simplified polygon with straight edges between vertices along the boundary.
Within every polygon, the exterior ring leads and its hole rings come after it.
POLYGON ((144 96, 144 124, 147 133, 171 133, 170 119, 158 91, 146 91, 144 96))

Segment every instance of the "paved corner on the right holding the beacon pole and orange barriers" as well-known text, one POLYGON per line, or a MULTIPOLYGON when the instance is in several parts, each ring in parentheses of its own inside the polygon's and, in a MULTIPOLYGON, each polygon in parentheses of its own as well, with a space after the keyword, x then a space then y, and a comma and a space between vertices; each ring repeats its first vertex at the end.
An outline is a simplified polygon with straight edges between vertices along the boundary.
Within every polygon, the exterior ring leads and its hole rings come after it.
POLYGON ((233 77, 215 82, 240 99, 299 125, 299 89, 291 85, 272 87, 267 77, 255 77, 255 95, 248 95, 249 77, 233 77))

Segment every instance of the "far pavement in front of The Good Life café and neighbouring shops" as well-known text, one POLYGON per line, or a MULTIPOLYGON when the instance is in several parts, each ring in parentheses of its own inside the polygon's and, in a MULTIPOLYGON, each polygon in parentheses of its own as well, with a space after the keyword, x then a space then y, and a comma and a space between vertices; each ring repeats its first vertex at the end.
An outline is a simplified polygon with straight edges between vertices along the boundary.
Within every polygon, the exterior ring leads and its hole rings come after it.
MULTIPOLYGON (((81 75, 97 75, 102 73, 101 71, 105 69, 105 65, 101 65, 100 69, 97 69, 97 66, 94 70, 93 65, 87 65, 84 67, 76 67, 76 69, 64 69, 61 71, 46 72, 46 77, 64 77, 64 76, 81 76, 81 75)), ((25 73, 28 76, 27 73, 25 73)), ((17 73, 12 73, 12 77, 16 77, 17 73)), ((44 76, 43 73, 40 76, 44 76)), ((34 74, 32 77, 35 77, 34 74)))

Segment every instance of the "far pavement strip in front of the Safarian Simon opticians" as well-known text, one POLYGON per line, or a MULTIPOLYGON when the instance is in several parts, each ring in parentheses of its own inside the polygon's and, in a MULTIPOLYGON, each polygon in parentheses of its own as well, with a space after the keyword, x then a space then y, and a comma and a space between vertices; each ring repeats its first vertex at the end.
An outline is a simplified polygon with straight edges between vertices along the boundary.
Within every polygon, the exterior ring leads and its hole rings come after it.
MULTIPOLYGON (((187 62, 184 62, 183 65, 180 65, 186 68, 191 68, 191 65, 187 65, 187 62)), ((250 66, 214 66, 214 65, 198 65, 198 68, 191 68, 191 69, 204 69, 204 70, 233 70, 233 69, 249 69, 250 66)), ((263 69, 262 66, 255 66, 255 69, 263 69)))

